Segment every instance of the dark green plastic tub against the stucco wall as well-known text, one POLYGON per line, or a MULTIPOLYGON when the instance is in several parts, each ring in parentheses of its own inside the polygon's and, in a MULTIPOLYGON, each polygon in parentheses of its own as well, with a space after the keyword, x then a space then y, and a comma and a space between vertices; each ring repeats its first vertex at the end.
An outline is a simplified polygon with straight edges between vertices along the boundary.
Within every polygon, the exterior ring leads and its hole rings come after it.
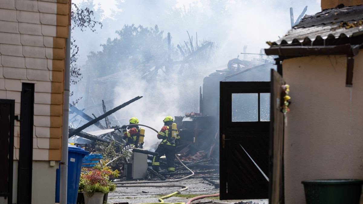
POLYGON ((306 204, 359 204, 363 180, 307 180, 304 184, 306 204))

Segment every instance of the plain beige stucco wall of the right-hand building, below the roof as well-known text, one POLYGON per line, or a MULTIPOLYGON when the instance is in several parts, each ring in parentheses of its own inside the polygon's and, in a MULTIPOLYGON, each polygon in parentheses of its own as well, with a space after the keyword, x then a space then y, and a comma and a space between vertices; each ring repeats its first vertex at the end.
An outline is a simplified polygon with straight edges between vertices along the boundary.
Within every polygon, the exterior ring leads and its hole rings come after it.
POLYGON ((285 203, 305 203, 302 180, 363 179, 363 50, 346 87, 346 56, 282 62, 291 105, 285 127, 285 203))

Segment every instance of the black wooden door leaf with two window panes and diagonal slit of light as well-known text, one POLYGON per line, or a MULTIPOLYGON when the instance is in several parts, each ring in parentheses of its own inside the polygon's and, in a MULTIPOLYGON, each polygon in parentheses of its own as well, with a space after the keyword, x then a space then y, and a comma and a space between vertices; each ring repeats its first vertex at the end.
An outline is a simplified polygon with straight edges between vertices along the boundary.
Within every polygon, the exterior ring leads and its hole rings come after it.
POLYGON ((220 82, 220 199, 267 199, 270 82, 220 82))

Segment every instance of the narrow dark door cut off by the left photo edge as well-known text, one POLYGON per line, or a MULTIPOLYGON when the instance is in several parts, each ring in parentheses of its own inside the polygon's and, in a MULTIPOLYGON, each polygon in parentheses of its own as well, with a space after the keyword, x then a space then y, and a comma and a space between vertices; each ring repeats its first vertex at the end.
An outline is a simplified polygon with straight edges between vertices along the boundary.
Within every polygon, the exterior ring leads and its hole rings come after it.
POLYGON ((0 99, 0 197, 12 204, 15 100, 0 99))

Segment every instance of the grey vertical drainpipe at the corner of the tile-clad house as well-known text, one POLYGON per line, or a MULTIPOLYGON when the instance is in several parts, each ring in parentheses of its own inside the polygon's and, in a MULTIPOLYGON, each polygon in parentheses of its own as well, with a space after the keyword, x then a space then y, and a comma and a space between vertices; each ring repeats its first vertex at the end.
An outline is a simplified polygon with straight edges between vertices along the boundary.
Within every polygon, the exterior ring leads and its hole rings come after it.
POLYGON ((69 116, 69 77, 70 77, 70 40, 71 40, 71 8, 69 1, 69 28, 66 40, 66 60, 64 69, 64 99, 63 99, 63 130, 62 130, 62 160, 61 160, 61 186, 60 203, 67 203, 67 174, 68 174, 68 116, 69 116))

